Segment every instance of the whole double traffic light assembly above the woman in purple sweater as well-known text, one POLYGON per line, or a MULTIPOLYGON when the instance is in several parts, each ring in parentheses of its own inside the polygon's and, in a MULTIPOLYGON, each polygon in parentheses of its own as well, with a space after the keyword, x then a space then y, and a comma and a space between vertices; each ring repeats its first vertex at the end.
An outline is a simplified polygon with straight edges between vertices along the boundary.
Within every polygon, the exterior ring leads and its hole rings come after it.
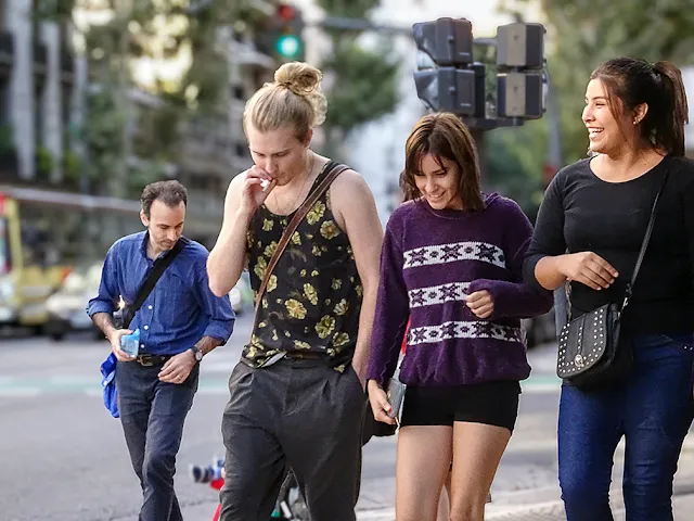
POLYGON ((490 118, 487 67, 474 61, 471 22, 438 18, 414 24, 412 33, 417 48, 414 85, 417 97, 430 110, 453 112, 483 129, 542 117, 545 30, 541 24, 502 25, 496 39, 479 41, 497 47, 497 106, 490 118))

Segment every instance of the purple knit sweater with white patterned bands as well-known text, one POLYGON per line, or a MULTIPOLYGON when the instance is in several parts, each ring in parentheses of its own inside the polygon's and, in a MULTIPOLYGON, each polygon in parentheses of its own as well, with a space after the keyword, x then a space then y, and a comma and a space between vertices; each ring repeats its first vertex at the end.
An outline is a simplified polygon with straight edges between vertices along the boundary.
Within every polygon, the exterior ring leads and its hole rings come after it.
POLYGON ((547 313, 552 293, 523 282, 532 226, 498 194, 485 209, 436 211, 425 200, 398 207, 381 254, 367 377, 381 385, 395 372, 411 320, 400 380, 410 385, 461 385, 523 380, 530 374, 520 318, 547 313), (465 296, 487 290, 494 302, 477 318, 465 296))

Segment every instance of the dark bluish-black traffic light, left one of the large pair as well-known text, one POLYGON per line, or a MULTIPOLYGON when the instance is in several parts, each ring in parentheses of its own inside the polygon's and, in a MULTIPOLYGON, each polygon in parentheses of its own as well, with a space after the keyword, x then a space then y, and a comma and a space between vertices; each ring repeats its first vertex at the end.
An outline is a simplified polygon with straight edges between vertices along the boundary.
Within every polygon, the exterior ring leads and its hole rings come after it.
POLYGON ((417 47, 414 85, 417 98, 433 111, 475 114, 473 27, 465 18, 438 18, 412 26, 417 47))

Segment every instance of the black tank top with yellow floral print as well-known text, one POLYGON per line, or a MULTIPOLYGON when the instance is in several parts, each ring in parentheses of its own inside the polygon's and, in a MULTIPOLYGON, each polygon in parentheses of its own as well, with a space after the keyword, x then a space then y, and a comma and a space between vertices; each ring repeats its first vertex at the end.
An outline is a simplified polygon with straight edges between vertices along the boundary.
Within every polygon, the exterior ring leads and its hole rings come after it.
MULTIPOLYGON (((314 190, 330 170, 317 176, 314 190)), ((254 293, 294 214, 277 215, 264 204, 247 233, 254 293)), ((336 221, 327 190, 299 223, 272 270, 244 360, 260 367, 281 352, 324 353, 337 370, 351 360, 357 343, 362 285, 355 255, 336 221)))

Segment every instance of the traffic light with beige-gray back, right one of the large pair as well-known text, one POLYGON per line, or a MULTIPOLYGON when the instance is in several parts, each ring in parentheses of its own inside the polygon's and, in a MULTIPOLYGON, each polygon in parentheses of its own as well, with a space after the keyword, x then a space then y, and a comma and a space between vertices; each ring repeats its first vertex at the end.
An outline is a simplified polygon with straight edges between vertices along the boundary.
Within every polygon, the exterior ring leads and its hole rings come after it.
POLYGON ((544 27, 514 23, 497 30, 497 113, 538 119, 544 113, 544 27))

